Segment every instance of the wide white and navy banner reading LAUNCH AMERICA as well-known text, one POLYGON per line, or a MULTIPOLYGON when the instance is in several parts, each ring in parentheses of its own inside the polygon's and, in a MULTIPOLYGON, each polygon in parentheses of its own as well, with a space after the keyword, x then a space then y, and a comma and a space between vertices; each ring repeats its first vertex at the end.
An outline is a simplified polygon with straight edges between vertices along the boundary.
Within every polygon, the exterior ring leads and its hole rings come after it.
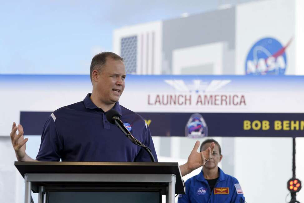
MULTIPOLYGON (((52 111, 92 90, 88 75, 0 75, 0 87, 0 136, 13 121, 41 135, 52 111)), ((303 89, 304 76, 128 75, 119 102, 154 136, 304 136, 303 89)))

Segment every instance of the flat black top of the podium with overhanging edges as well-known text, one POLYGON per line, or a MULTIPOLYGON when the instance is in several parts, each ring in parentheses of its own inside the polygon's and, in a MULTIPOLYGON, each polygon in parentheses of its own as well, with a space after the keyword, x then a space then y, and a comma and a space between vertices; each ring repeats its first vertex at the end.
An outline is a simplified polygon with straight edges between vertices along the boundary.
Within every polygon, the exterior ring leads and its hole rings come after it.
POLYGON ((102 173, 102 174, 174 174, 175 189, 183 189, 178 163, 167 162, 70 162, 70 161, 15 161, 23 176, 27 173, 102 173))

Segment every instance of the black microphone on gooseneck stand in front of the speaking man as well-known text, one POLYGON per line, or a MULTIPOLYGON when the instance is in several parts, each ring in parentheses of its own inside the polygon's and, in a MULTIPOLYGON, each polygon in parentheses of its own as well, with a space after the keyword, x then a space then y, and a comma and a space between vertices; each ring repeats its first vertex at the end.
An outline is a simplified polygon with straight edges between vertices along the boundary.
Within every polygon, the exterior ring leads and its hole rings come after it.
POLYGON ((133 142, 137 146, 143 147, 150 155, 151 161, 155 162, 151 149, 132 136, 130 131, 128 131, 123 122, 120 120, 120 114, 117 111, 111 109, 105 113, 105 116, 110 123, 116 124, 116 126, 119 127, 119 129, 125 134, 127 138, 131 140, 131 142, 133 142))

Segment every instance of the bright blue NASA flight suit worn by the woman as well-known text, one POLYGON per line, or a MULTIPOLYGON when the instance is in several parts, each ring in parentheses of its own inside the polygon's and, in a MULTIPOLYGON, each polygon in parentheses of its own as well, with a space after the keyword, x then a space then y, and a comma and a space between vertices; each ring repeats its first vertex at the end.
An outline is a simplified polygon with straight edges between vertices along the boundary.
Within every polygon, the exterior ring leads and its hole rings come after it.
POLYGON ((208 182, 204 178, 203 170, 196 176, 189 178, 186 185, 186 194, 179 195, 178 203, 243 203, 245 197, 243 191, 236 190, 240 188, 238 180, 225 174, 218 168, 219 177, 213 191, 210 191, 208 182), (236 184, 236 186, 235 186, 236 184), (228 189, 228 191, 227 191, 228 189), (216 190, 216 191, 215 191, 216 190), (215 194, 217 193, 217 194, 215 194))

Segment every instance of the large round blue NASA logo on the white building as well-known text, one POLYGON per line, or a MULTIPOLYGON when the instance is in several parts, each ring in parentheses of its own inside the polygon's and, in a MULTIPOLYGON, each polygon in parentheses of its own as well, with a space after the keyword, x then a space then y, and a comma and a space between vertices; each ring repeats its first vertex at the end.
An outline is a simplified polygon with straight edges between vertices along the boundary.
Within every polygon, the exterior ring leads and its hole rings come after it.
POLYGON ((287 67, 285 46, 271 37, 257 41, 250 49, 245 62, 246 75, 284 75, 287 67))

